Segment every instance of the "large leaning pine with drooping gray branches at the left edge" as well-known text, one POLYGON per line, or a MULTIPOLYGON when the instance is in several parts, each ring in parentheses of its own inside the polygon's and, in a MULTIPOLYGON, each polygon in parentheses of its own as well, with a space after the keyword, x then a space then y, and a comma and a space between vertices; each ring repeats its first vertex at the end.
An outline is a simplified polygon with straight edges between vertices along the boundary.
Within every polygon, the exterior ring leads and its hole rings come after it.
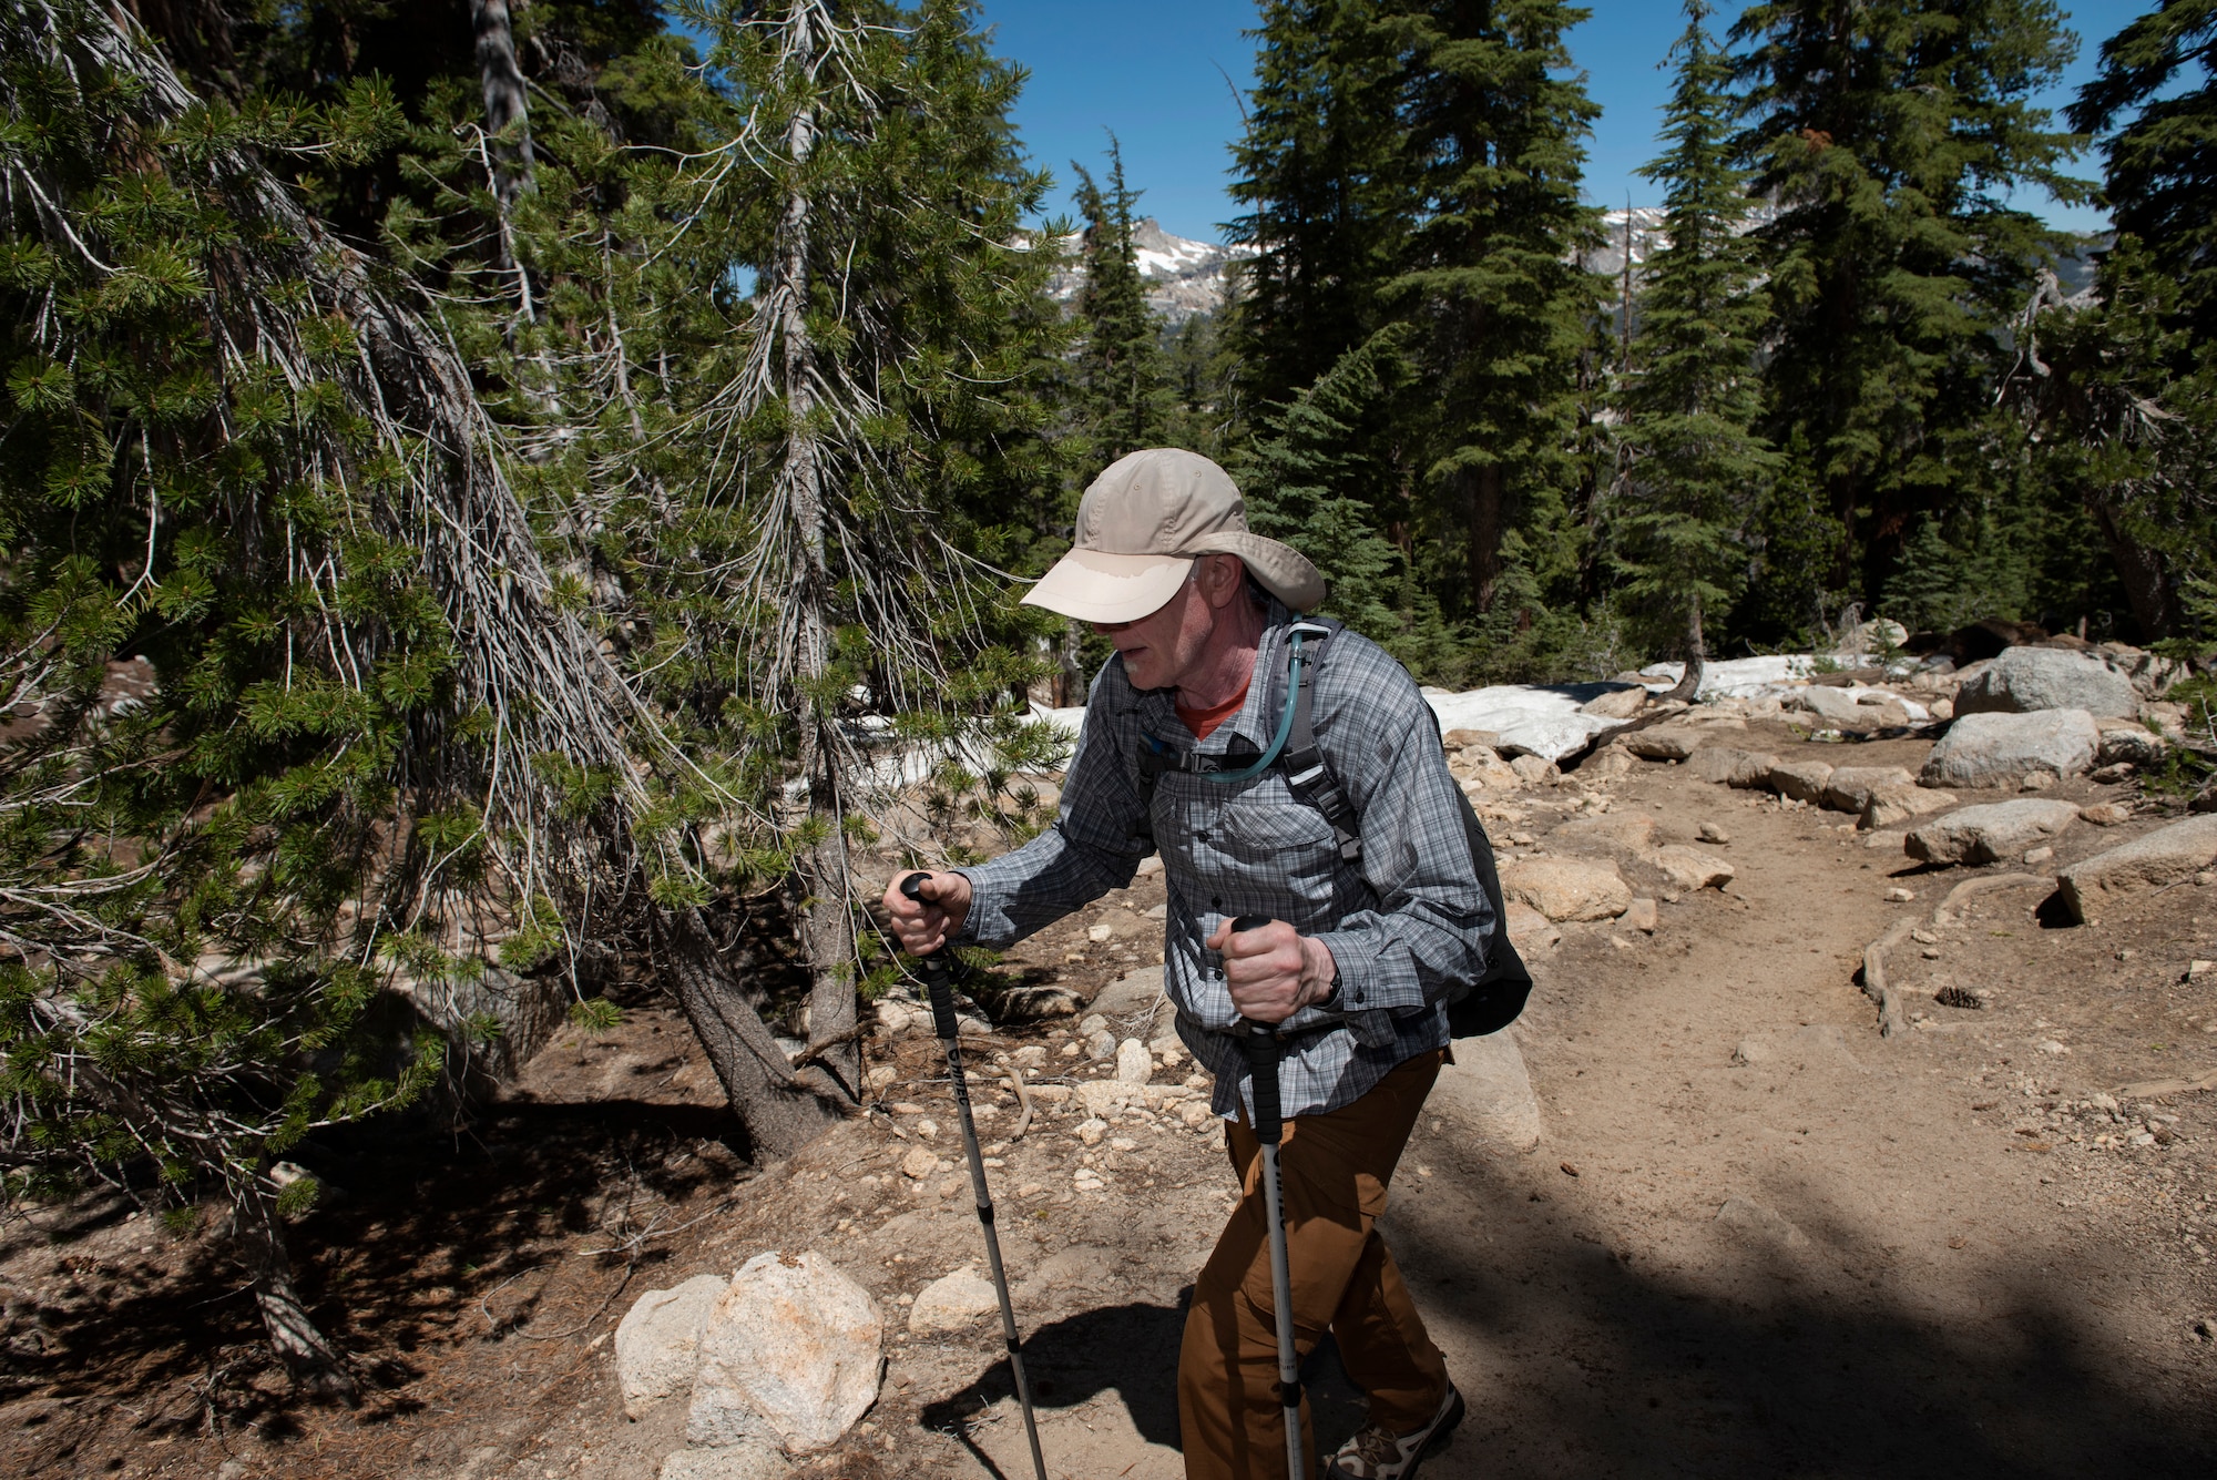
POLYGON ((348 1396, 275 1159, 532 1050, 568 928, 656 844, 634 762, 676 756, 446 339, 270 171, 375 155, 379 86, 211 102, 120 11, 31 0, 0 109, 0 691, 35 711, 0 753, 0 1185, 226 1203, 277 1354, 348 1396))

